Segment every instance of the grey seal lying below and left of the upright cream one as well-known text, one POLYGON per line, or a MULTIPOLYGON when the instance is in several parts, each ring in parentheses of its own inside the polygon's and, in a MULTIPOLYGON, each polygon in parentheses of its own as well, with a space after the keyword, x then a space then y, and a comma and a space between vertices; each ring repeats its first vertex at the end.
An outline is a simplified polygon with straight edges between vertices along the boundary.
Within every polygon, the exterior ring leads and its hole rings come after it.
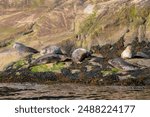
POLYGON ((112 65, 113 67, 124 70, 124 71, 134 71, 134 70, 140 69, 138 66, 130 64, 122 58, 111 59, 108 61, 108 63, 112 65))

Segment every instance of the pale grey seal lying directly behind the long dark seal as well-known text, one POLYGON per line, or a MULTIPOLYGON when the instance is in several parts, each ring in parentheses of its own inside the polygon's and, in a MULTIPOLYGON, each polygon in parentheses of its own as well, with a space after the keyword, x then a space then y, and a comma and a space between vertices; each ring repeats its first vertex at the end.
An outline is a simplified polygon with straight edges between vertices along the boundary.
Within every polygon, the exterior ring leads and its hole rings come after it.
POLYGON ((57 46, 47 46, 40 51, 41 55, 45 54, 64 54, 60 47, 57 46))

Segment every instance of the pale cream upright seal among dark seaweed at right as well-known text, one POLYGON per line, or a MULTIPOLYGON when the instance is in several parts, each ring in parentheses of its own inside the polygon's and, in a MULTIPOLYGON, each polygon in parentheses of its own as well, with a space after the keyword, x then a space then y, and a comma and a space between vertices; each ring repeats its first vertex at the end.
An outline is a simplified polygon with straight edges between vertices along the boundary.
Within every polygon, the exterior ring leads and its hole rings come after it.
POLYGON ((132 45, 128 45, 126 49, 121 53, 121 58, 128 59, 133 57, 132 45))

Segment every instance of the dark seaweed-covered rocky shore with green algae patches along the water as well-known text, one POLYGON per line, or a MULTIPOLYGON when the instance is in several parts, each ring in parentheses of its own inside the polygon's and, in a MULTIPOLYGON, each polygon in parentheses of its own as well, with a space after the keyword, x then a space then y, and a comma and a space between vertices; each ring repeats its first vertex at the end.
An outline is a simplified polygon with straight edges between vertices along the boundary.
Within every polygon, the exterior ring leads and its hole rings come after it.
MULTIPOLYGON (((91 48, 92 55, 85 57, 80 63, 69 60, 32 66, 30 61, 39 54, 29 55, 7 66, 0 73, 0 82, 83 83, 100 86, 150 85, 150 59, 131 58, 124 60, 131 65, 138 65, 142 68, 131 71, 118 69, 108 62, 120 57, 122 50, 125 49, 122 42, 123 40, 120 39, 114 45, 93 46, 91 48)), ((147 54, 150 54, 148 53, 150 42, 134 42, 132 45, 136 51, 145 50, 147 54)))

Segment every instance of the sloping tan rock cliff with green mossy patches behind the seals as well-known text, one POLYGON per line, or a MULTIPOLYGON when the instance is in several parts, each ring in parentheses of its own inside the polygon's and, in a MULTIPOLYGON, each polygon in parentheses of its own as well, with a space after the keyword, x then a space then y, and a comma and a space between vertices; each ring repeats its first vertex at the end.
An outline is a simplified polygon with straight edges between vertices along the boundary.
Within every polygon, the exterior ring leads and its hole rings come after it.
MULTIPOLYGON (((16 41, 38 50, 66 41, 88 49, 121 38, 124 45, 149 41, 149 13, 149 0, 0 0, 0 52, 16 41)), ((3 64, 20 58, 7 55, 3 64)))

